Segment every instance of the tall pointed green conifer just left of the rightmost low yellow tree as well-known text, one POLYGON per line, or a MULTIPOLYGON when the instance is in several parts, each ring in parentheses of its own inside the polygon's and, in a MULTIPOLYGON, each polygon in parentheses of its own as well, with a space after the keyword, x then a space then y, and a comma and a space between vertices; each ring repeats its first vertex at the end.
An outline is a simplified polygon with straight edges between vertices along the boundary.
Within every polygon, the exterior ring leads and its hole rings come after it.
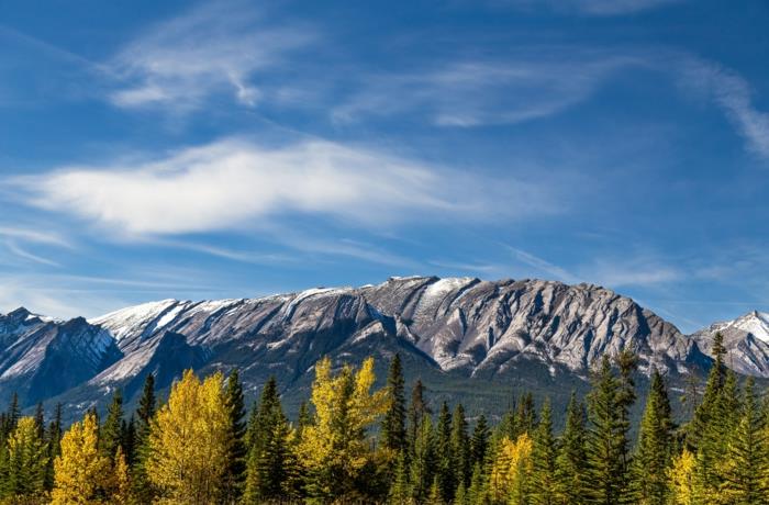
POLYGON ((670 416, 668 393, 662 377, 655 368, 633 464, 633 491, 638 504, 667 503, 668 470, 672 457, 675 428, 670 416))

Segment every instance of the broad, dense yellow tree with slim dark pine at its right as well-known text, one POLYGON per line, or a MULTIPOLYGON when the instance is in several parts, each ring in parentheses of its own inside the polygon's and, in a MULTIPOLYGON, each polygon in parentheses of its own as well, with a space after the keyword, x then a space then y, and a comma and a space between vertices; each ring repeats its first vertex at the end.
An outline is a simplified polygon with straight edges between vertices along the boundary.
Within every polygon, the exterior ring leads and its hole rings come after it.
POLYGON ((215 503, 227 454, 224 377, 202 382, 187 370, 149 433, 147 478, 165 503, 215 503))

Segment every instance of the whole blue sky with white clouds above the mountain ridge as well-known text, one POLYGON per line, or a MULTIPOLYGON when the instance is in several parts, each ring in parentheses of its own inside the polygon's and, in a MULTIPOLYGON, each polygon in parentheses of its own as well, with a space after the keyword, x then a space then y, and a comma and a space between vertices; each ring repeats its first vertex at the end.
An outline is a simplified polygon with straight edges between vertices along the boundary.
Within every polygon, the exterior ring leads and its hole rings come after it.
POLYGON ((0 3, 0 311, 545 278, 769 310, 769 4, 0 3))

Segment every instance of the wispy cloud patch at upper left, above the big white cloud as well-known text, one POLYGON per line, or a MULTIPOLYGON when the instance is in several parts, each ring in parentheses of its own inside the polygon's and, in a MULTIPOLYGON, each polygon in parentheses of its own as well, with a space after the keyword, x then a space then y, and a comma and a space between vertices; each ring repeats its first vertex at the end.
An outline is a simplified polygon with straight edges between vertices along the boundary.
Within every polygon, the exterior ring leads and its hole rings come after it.
POLYGON ((254 106, 265 99, 255 83, 260 74, 316 36, 308 26, 276 27, 245 1, 203 3, 145 31, 113 58, 110 67, 126 83, 110 99, 119 106, 185 112, 229 92, 254 106))

